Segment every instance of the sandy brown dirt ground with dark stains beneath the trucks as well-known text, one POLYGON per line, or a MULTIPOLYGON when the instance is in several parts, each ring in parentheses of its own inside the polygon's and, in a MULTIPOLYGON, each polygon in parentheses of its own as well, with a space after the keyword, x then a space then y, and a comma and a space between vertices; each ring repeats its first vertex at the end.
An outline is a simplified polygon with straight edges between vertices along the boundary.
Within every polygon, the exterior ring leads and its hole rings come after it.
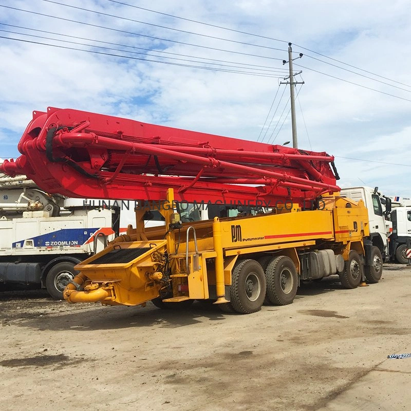
POLYGON ((408 410, 411 268, 306 283, 251 315, 53 302, 0 292, 1 409, 408 410))

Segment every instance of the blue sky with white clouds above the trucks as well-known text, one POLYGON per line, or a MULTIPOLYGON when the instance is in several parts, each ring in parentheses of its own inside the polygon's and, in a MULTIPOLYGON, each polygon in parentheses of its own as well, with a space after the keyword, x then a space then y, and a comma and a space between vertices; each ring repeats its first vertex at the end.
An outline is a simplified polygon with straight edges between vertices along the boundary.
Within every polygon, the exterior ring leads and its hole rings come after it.
POLYGON ((0 16, 0 158, 48 106, 292 142, 290 42, 298 148, 335 156, 342 187, 411 197, 407 0, 0 0, 0 16))

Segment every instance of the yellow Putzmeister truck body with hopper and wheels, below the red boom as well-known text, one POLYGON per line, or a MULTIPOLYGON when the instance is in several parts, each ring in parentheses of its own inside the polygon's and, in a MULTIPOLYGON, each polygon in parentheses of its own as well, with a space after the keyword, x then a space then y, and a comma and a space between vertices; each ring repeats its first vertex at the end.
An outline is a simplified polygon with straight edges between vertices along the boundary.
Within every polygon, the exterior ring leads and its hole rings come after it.
MULTIPOLYGON (((172 190, 167 202, 173 204, 172 190)), ((165 226, 144 229, 147 204, 136 211, 136 228, 76 266, 80 274, 64 297, 159 307, 212 300, 223 310, 251 313, 264 301, 291 303, 302 280, 338 274, 346 288, 378 282, 382 260, 367 242, 362 201, 333 195, 321 205, 283 204, 267 214, 186 223, 169 207, 159 210, 165 226)))

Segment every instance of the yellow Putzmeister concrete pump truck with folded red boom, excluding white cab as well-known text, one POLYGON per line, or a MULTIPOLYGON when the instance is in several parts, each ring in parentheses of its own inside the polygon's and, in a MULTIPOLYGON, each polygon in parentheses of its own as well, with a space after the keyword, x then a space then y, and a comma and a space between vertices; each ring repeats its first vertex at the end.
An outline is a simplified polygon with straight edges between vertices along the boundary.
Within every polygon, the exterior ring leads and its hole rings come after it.
POLYGON ((292 303, 307 279, 338 274, 356 288, 381 277, 364 203, 338 195, 327 153, 52 107, 33 112, 18 150, 3 172, 47 192, 138 200, 136 227, 76 266, 69 302, 211 300, 252 313, 292 303), (177 210, 198 202, 220 214, 182 222, 177 210), (164 225, 146 227, 155 212, 164 225))

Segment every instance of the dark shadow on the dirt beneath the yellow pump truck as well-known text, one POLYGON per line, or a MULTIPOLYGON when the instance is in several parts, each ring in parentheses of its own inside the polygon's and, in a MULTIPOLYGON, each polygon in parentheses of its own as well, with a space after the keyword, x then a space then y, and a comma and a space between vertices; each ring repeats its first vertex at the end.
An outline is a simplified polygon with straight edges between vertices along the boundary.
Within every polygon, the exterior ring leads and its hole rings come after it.
MULTIPOLYGON (((330 276, 319 282, 302 282, 295 300, 341 289, 343 287, 338 276, 330 276)), ((2 315, 2 322, 39 331, 76 332, 141 327, 178 328, 209 321, 230 321, 230 316, 241 315, 222 312, 217 305, 204 301, 195 301, 190 308, 185 309, 159 309, 152 303, 147 303, 146 307, 103 307, 99 304, 81 303, 70 305, 65 302, 53 302, 51 299, 43 300, 44 296, 47 297, 45 290, 33 290, 28 293, 18 292, 18 296, 13 293, 3 300, 0 293, 0 302, 3 301, 3 304, 9 305, 10 308, 18 308, 2 315), (17 297, 17 301, 13 301, 13 295, 17 297), (33 301, 29 300, 36 296, 40 301, 33 306, 33 301), (28 302, 24 304, 24 301, 28 302), (16 305, 18 306, 14 307, 16 305)), ((7 310, 7 307, 4 308, 7 310)), ((263 311, 277 311, 281 308, 267 305, 263 307, 263 311)))

